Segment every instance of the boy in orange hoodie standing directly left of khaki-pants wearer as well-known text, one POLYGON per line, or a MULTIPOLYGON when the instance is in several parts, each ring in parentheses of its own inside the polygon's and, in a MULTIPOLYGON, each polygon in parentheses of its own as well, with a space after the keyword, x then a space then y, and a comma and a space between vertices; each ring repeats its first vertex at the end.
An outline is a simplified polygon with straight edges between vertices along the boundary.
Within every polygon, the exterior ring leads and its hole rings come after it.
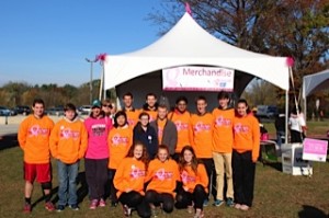
MULTIPOLYGON (((207 113, 207 101, 205 96, 198 96, 195 101, 197 113, 191 116, 190 141, 195 151, 196 158, 201 159, 205 165, 208 181, 214 171, 213 160, 213 127, 214 119, 211 113, 207 113)), ((208 191, 212 190, 212 183, 208 183, 208 191)), ((208 197, 203 206, 208 205, 208 197)))

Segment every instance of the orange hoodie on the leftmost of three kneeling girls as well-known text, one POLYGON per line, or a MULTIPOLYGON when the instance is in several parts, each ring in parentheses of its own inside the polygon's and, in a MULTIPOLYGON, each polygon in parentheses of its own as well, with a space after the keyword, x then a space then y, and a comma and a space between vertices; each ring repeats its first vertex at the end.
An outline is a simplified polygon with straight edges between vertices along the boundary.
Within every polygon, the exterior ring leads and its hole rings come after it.
POLYGON ((145 163, 135 158, 125 158, 121 161, 113 180, 117 190, 116 196, 124 192, 135 191, 144 195, 146 179, 145 163))

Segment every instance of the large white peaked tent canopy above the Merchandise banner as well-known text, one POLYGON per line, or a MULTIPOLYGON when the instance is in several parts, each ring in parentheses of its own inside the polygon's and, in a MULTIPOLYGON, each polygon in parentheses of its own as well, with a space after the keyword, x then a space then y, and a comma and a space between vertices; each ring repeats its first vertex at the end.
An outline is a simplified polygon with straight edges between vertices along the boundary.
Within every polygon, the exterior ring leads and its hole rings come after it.
MULTIPOLYGON (((235 69, 288 90, 285 57, 257 54, 224 43, 203 30, 189 13, 154 44, 132 53, 107 55, 104 88, 111 89, 164 68, 189 65, 235 69)), ((247 80, 249 82, 250 77, 247 80)))

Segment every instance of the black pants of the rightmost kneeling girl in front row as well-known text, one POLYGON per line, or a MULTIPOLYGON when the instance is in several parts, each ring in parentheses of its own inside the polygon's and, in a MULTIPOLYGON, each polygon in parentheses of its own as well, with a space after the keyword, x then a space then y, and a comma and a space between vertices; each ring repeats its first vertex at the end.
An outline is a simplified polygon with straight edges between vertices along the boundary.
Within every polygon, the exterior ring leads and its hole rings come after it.
POLYGON ((203 209, 203 202, 207 198, 207 194, 202 185, 196 185, 193 193, 185 192, 180 188, 175 196, 175 207, 178 209, 186 208, 194 203, 195 209, 203 209))

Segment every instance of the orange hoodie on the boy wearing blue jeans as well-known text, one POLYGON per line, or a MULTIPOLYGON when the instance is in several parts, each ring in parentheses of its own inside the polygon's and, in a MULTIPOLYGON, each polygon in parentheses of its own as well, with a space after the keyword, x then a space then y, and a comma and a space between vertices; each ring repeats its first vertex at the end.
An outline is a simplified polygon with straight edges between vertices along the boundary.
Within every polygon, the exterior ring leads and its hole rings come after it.
POLYGON ((52 130, 50 152, 64 163, 75 163, 83 158, 88 145, 88 133, 84 124, 76 118, 63 118, 52 130))

